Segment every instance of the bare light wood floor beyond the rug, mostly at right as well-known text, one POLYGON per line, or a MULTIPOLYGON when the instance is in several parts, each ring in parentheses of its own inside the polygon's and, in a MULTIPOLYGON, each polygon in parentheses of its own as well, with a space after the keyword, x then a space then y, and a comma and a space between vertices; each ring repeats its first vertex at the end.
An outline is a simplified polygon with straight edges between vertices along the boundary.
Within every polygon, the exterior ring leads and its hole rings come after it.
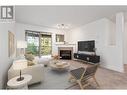
MULTIPOLYGON (((74 67, 86 66, 86 64, 82 64, 82 62, 77 61, 69 61, 71 65, 74 67)), ((89 88, 93 89, 127 89, 127 65, 125 67, 124 73, 119 73, 116 71, 112 71, 109 69, 99 67, 96 73, 96 79, 100 84, 100 88, 96 86, 95 83, 89 88)), ((74 89, 79 89, 78 87, 74 87, 74 89)))

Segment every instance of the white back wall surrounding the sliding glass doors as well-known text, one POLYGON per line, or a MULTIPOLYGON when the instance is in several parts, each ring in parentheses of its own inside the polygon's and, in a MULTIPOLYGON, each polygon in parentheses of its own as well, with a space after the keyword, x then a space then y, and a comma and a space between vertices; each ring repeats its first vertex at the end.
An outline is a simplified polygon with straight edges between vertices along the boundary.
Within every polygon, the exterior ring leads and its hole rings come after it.
POLYGON ((66 40, 66 33, 62 32, 62 31, 59 31, 57 29, 41 27, 41 26, 35 26, 35 25, 22 24, 22 23, 16 23, 17 40, 25 40, 25 30, 52 33, 52 54, 53 55, 58 54, 58 48, 55 45, 55 41, 56 41, 55 35, 56 34, 65 34, 65 40, 66 40))

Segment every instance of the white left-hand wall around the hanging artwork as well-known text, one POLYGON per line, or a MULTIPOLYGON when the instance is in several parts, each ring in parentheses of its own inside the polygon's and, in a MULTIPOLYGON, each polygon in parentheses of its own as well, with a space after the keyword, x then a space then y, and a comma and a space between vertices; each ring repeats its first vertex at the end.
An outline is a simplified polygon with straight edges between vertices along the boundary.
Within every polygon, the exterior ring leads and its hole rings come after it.
POLYGON ((15 23, 0 22, 0 88, 7 83, 7 71, 13 59, 8 57, 8 31, 15 34, 15 23))

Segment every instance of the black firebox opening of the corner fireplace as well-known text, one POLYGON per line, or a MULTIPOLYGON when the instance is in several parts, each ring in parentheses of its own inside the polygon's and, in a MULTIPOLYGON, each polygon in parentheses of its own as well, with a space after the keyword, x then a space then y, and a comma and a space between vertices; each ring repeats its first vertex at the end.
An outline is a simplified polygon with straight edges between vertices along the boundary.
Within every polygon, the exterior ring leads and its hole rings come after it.
POLYGON ((71 59, 71 50, 60 50, 60 59, 71 59))

